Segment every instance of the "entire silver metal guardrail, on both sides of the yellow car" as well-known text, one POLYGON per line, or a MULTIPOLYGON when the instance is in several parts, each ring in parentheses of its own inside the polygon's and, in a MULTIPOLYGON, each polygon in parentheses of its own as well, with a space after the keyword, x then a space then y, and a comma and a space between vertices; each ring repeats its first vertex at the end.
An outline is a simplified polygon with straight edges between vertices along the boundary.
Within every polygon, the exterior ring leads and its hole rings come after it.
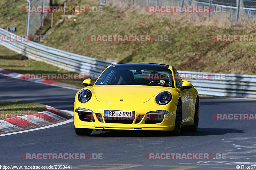
MULTIPOLYGON (((15 35, 0 28, 0 35, 15 35)), ((1 39, 0 39, 1 40, 1 39)), ((74 72, 100 74, 108 65, 114 62, 98 60, 91 57, 69 53, 56 48, 48 47, 32 41, 4 42, 0 45, 9 48, 28 58, 43 61, 59 68, 74 72)), ((202 72, 179 71, 182 74, 204 74, 202 72)), ((205 73, 215 75, 216 73, 205 73)), ((256 98, 256 75, 225 74, 223 79, 188 80, 196 87, 199 94, 226 97, 256 98)))

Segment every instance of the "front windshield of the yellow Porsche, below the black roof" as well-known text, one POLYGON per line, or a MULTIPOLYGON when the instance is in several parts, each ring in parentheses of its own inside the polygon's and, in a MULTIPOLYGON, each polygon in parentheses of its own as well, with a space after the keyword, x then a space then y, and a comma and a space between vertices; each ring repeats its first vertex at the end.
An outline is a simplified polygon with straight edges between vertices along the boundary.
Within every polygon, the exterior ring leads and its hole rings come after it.
POLYGON ((166 85, 174 87, 172 72, 168 68, 157 66, 114 66, 106 69, 95 85, 160 85, 164 80, 166 85))

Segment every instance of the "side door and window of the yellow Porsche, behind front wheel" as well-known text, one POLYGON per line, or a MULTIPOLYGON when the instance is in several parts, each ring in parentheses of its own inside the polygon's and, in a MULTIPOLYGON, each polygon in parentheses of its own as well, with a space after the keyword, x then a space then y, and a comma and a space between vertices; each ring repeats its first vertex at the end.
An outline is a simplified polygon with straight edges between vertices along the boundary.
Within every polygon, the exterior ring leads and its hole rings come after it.
POLYGON ((180 90, 180 87, 182 86, 182 79, 180 78, 180 75, 177 70, 174 70, 174 77, 175 77, 175 82, 176 82, 176 87, 179 89, 179 93, 181 96, 182 100, 182 116, 181 119, 182 121, 186 121, 188 117, 188 108, 189 108, 189 103, 190 103, 190 97, 191 93, 189 89, 185 89, 184 91, 180 90))

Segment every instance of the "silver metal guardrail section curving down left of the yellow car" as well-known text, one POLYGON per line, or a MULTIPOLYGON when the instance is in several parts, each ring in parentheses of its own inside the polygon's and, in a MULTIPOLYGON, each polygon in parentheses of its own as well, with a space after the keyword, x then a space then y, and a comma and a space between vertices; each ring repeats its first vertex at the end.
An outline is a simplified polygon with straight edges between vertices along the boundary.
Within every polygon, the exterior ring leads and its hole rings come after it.
MULTIPOLYGON (((0 28, 0 35, 15 34, 0 28)), ((87 72, 89 76, 90 73, 101 73, 108 65, 114 63, 69 53, 33 41, 0 41, 0 44, 28 58, 43 61, 69 71, 87 72)))

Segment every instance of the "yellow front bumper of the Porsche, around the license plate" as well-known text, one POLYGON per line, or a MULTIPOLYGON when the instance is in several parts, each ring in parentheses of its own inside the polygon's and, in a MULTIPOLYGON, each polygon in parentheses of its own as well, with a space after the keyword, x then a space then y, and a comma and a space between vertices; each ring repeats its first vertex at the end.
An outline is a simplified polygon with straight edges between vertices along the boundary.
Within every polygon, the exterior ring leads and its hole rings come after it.
POLYGON ((126 103, 126 104, 116 104, 116 103, 100 103, 98 106, 87 105, 86 103, 80 103, 75 101, 74 104, 74 125, 76 128, 87 128, 87 129, 121 129, 121 130, 173 130, 175 125, 176 116, 176 105, 174 103, 169 103, 164 106, 151 105, 148 106, 146 103, 126 103), (82 121, 78 113, 75 112, 76 108, 86 108, 92 110, 92 115, 94 122, 82 121), (131 110, 134 111, 134 120, 131 123, 109 123, 104 119, 104 110, 131 110), (166 110, 169 115, 164 115, 163 121, 160 123, 145 123, 146 113, 150 111, 166 110), (99 119, 101 115, 102 120, 99 119), (140 122, 137 123, 136 120, 140 116, 140 122))

